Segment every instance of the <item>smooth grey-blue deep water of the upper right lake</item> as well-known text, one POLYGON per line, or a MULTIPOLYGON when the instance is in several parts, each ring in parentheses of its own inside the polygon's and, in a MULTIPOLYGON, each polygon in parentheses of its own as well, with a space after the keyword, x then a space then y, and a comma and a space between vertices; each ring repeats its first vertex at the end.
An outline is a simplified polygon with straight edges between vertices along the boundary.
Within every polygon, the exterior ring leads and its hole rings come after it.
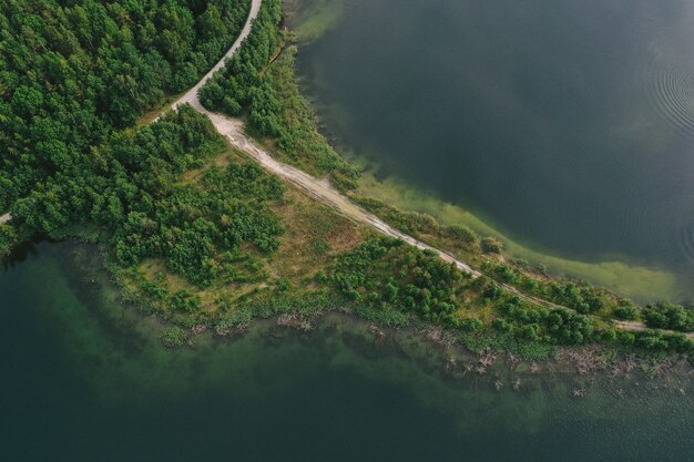
POLYGON ((385 172, 694 286, 694 1, 346 0, 300 72, 385 172))

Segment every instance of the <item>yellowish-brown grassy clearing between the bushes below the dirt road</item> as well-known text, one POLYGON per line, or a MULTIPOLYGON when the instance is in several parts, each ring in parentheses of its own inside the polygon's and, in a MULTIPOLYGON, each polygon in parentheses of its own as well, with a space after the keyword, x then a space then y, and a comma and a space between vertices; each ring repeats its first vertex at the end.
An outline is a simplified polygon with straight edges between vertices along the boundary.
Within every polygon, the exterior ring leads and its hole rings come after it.
MULTIPOLYGON (((182 183, 202 187, 200 179, 206 170, 246 160, 246 154, 229 146, 201 167, 187 171, 182 183)), ((269 208, 285 227, 282 245, 271 255, 259 254, 251 246, 242 248, 234 263, 237 278, 222 278, 201 288, 170 271, 162 259, 151 258, 137 267, 119 270, 121 285, 137 301, 145 300, 147 311, 159 312, 176 325, 214 322, 233 317, 239 309, 265 306, 267 300, 278 297, 313 299, 316 294, 325 292, 326 287, 315 283, 316 274, 326 271, 336 254, 354 248, 370 233, 292 187, 282 199, 271 202, 269 208), (156 290, 166 295, 156 297, 156 290), (176 312, 171 296, 181 292, 197 298, 200 308, 191 314, 176 312)))

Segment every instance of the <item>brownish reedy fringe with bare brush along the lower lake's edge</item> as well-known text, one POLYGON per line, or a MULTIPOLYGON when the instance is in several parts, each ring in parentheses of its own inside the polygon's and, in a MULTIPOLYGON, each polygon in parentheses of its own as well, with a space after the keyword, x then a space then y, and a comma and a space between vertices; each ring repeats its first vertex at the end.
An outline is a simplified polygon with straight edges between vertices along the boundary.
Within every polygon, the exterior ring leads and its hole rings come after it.
MULTIPOLYGON (((472 350, 459 340, 436 327, 407 326, 390 328, 378 322, 369 321, 357 314, 343 308, 312 315, 283 314, 268 318, 257 318, 254 325, 261 324, 268 330, 294 332, 299 337, 309 337, 315 331, 335 325, 348 325, 356 333, 361 333, 371 346, 371 353, 395 353, 414 360, 429 360, 423 365, 430 373, 439 374, 441 379, 453 379, 456 382, 473 380, 487 383, 490 389, 500 391, 502 388, 512 388, 513 391, 523 391, 525 382, 538 379, 543 383, 554 382, 559 378, 567 386, 581 384, 570 390, 572 398, 584 398, 596 383, 602 384, 636 384, 644 381, 645 388, 655 386, 659 380, 677 381, 681 386, 675 389, 678 394, 686 394, 685 388, 692 386, 691 376, 694 367, 684 358, 663 358, 659 361, 644 360, 631 355, 621 357, 605 355, 601 347, 586 346, 580 350, 561 347, 552 358, 532 360, 520 358, 508 351, 490 349, 472 350), (412 339, 418 346, 407 353, 400 342, 402 339, 412 339), (423 355, 417 358, 416 352, 423 355), (682 383, 681 380, 684 380, 682 383)), ((258 328, 263 328, 258 326, 258 328)), ((197 335, 210 338, 235 338, 248 333, 252 326, 220 336, 215 332, 200 330, 193 333, 191 341, 194 348, 197 335)), ((282 341, 282 337, 271 333, 271 337, 282 341)), ((422 366, 422 365, 420 365, 422 366)), ((655 387, 657 388, 657 386, 655 387)), ((615 389, 616 390, 616 389, 615 389)), ((615 391, 614 390, 614 391, 615 391)), ((615 397, 623 398, 619 392, 615 397)))

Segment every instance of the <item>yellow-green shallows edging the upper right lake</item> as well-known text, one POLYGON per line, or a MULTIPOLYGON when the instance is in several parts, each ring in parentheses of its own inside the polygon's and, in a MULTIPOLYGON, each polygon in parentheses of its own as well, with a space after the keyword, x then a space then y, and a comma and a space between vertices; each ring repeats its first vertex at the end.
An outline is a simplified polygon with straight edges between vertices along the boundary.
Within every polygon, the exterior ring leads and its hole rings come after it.
MULTIPOLYGON (((299 12, 293 11, 293 13, 294 18, 288 22, 294 32, 299 34, 297 47, 300 55, 300 50, 310 47, 314 41, 314 38, 305 41, 300 35, 302 21, 310 21, 310 11, 302 12, 299 7, 299 12)), ((296 71, 298 70, 299 66, 296 68, 296 71)), ((299 82, 303 96, 317 112, 322 109, 320 101, 312 91, 313 85, 306 83, 306 74, 296 72, 295 78, 299 82)), ((328 122, 326 116, 317 114, 317 119, 319 132, 329 138, 329 144, 340 153, 340 156, 350 164, 365 168, 365 173, 357 181, 358 186, 355 189, 359 195, 374 197, 405 212, 431 215, 443 225, 465 225, 481 235, 493 236, 504 244, 504 255, 543 265, 553 276, 585 280, 591 285, 604 287, 641 304, 655 302, 662 299, 680 304, 694 301, 694 292, 688 290, 690 287, 682 280, 682 277, 655 261, 642 261, 618 254, 600 254, 589 258, 564 256, 561 253, 543 249, 538 245, 517 240, 509 233, 499 230, 489 219, 476 215, 459 204, 441 199, 431 191, 408 183, 401 177, 388 175, 385 178, 379 178, 375 174, 379 167, 377 161, 372 161, 364 154, 349 152, 348 146, 336 145, 329 129, 326 127, 326 122, 328 122)))

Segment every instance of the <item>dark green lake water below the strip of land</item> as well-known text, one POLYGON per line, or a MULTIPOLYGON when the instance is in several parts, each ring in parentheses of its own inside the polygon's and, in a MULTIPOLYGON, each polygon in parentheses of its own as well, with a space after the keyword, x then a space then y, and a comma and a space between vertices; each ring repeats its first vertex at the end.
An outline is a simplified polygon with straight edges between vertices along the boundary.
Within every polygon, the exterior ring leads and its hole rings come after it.
POLYGON ((366 325, 337 315, 307 335, 265 321, 241 338, 201 337, 169 351, 156 321, 114 302, 93 255, 43 244, 0 274, 0 461, 684 462, 694 454, 694 388, 684 377, 590 386, 522 373, 523 365, 465 374, 465 355, 443 373, 455 351, 407 332, 376 348, 366 325), (510 387, 516 379, 520 391, 510 387), (569 398, 575 387, 588 387, 584 399, 569 398), (612 394, 619 388, 624 398, 612 394))

